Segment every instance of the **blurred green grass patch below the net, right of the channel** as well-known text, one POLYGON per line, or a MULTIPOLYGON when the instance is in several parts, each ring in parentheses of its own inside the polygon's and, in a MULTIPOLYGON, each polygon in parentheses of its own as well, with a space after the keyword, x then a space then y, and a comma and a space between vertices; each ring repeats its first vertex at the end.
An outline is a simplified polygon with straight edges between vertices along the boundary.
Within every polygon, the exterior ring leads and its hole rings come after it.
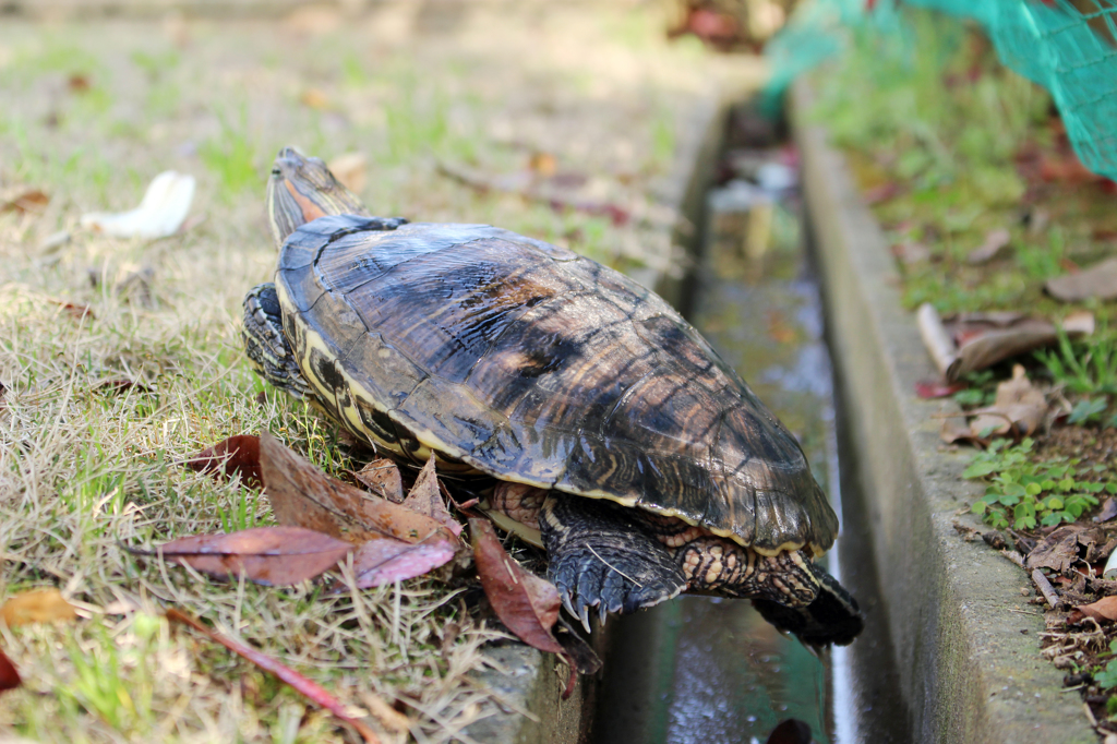
POLYGON ((1043 283, 1068 263, 1114 255, 1113 194, 1046 182, 1018 164, 1063 156, 1051 99, 1001 66, 978 31, 927 10, 906 9, 900 19, 890 32, 851 31, 849 50, 820 73, 813 116, 849 153, 862 189, 904 189, 873 211, 894 245, 930 250, 929 261, 900 267, 905 304, 1061 317, 1068 307, 1048 298, 1043 283), (967 255, 1001 228, 1011 235, 1005 255, 970 265, 967 255))

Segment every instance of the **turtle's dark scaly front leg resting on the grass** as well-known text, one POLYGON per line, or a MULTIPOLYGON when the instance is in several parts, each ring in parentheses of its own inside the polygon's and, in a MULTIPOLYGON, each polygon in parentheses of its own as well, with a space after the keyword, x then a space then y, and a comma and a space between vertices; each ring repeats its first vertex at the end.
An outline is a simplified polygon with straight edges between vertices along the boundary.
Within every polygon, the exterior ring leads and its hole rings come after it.
POLYGON ((296 398, 309 393, 311 388, 283 330, 283 309, 275 284, 269 282, 252 287, 245 296, 242 335, 248 359, 260 376, 296 398))

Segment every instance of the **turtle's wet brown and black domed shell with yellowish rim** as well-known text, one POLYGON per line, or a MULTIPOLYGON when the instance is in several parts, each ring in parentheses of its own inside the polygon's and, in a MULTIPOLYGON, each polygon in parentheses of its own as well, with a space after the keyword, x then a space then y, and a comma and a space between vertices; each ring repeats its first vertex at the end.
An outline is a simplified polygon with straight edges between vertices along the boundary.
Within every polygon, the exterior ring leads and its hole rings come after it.
POLYGON ((677 516, 774 554, 838 519, 748 385, 658 295, 484 225, 323 217, 276 271, 299 368, 398 456, 677 516))

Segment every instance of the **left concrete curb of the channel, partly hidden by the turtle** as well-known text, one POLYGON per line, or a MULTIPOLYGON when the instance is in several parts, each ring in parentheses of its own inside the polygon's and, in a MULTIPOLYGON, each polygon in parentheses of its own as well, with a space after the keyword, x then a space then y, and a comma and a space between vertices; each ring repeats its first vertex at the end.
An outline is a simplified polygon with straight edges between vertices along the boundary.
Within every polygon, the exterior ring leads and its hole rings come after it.
MULTIPOLYGON (((728 107, 739 98, 738 93, 726 90, 722 96, 712 96, 688 113, 679 131, 671 171, 660 184, 662 201, 678 213, 672 239, 690 257, 697 255, 703 239, 699 226, 705 221, 705 195, 724 140, 728 107)), ((655 269, 630 274, 645 286, 655 287, 676 307, 688 301, 686 276, 671 277, 655 269)), ((594 632, 593 641, 603 656, 604 639, 600 632, 594 632)), ((494 744, 575 744, 588 740, 596 703, 596 679, 579 678, 573 696, 563 700, 564 679, 555 670, 560 661, 554 655, 521 643, 490 648, 485 654, 493 668, 476 678, 491 688, 503 705, 494 715, 467 727, 465 733, 470 738, 494 744)))

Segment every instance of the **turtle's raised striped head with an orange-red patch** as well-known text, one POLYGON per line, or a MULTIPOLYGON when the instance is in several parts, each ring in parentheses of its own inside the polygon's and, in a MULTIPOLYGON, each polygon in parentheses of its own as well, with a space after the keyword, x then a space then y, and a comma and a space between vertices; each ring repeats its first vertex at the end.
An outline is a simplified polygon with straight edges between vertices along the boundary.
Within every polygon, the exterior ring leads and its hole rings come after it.
POLYGON ((334 178, 318 158, 306 158, 294 147, 276 155, 268 179, 268 223, 276 249, 292 232, 328 214, 369 216, 361 200, 334 178))

